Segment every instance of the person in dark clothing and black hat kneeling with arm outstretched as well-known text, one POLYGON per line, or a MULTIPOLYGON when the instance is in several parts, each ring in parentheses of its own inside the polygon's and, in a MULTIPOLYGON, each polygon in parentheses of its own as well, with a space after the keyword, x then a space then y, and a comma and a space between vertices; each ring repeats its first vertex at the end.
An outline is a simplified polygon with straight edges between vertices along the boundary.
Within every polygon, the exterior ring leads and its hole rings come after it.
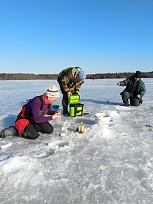
POLYGON ((126 86, 123 92, 120 93, 125 106, 129 106, 129 99, 131 106, 139 106, 145 94, 145 84, 141 80, 141 72, 136 71, 134 75, 123 81, 117 83, 118 86, 126 86))

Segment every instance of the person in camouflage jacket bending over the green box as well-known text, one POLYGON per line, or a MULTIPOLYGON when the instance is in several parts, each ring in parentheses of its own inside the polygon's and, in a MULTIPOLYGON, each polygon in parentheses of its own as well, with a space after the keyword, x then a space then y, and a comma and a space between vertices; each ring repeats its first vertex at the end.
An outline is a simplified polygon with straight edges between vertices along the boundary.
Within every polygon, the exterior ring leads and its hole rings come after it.
POLYGON ((68 98, 72 94, 79 94, 80 87, 84 83, 86 74, 80 67, 69 67, 58 75, 58 83, 63 94, 63 115, 68 116, 68 98))

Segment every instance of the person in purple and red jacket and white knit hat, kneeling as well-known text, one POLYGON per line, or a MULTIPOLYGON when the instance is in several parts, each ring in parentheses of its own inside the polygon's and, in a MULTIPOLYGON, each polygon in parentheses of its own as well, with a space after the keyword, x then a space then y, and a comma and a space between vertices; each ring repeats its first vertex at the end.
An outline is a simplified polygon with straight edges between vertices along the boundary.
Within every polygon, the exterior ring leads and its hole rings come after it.
POLYGON ((36 139, 39 134, 53 132, 50 120, 60 119, 60 112, 51 111, 51 105, 59 97, 59 90, 55 85, 51 85, 46 93, 30 99, 22 106, 22 110, 17 116, 15 127, 21 137, 36 139))

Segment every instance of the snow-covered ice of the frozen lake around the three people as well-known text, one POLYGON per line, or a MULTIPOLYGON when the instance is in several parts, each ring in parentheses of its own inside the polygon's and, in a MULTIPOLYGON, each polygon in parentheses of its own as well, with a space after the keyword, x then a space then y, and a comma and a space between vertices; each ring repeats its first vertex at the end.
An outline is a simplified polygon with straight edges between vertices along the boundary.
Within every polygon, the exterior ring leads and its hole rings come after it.
MULTIPOLYGON (((120 106, 118 80, 86 80, 89 115, 62 116, 53 134, 36 140, 0 139, 0 203, 153 203, 153 79, 143 80, 140 107, 120 106), (84 134, 76 132, 80 122, 84 134)), ((0 81, 0 129, 50 83, 0 81)))

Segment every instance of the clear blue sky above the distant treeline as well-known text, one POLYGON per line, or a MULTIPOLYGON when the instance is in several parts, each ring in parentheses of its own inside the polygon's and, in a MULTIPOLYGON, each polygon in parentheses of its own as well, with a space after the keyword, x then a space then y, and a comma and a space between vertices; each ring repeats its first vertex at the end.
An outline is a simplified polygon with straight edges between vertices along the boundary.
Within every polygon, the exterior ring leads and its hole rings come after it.
POLYGON ((153 70, 153 0, 0 0, 0 72, 153 70))

